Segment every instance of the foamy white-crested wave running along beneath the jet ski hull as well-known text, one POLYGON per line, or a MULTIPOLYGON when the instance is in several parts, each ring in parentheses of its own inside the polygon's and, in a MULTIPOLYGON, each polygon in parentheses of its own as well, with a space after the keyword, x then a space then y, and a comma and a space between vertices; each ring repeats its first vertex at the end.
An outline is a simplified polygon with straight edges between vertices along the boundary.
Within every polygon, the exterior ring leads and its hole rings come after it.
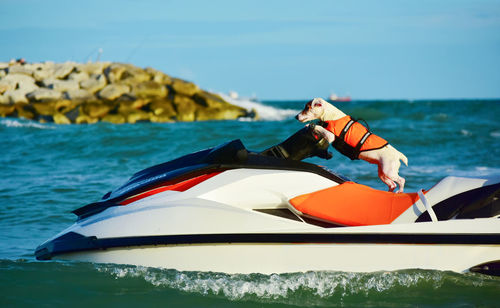
MULTIPOLYGON (((478 274, 464 275, 428 270, 376 273, 315 271, 243 275, 110 265, 98 265, 97 269, 109 273, 116 279, 142 278, 157 287, 203 296, 223 297, 231 301, 319 306, 366 300, 381 293, 389 297, 399 297, 402 288, 437 290, 444 286, 448 288, 450 284, 453 285, 452 289, 478 287, 488 279, 478 274)), ((398 307, 401 307, 400 304, 398 307)))

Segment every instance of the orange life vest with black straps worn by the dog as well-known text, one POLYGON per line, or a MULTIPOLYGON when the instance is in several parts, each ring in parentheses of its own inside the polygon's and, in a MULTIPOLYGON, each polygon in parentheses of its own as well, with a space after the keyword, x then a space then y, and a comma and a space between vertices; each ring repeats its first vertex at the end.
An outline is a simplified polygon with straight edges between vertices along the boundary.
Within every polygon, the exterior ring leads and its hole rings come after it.
POLYGON ((359 159, 361 152, 380 149, 388 144, 350 116, 326 123, 326 129, 335 135, 332 146, 352 160, 359 159))

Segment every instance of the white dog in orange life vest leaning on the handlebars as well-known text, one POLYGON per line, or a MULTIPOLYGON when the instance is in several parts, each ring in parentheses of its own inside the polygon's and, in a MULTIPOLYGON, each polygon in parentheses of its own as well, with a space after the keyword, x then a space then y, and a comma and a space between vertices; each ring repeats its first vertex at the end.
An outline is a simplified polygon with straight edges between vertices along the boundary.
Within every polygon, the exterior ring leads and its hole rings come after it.
POLYGON ((397 192, 403 192, 405 179, 398 173, 400 160, 408 166, 408 159, 387 141, 373 135, 360 123, 321 98, 309 101, 295 118, 303 123, 317 119, 326 122, 326 128, 314 126, 314 131, 319 136, 333 143, 337 150, 351 159, 362 159, 378 165, 378 176, 389 186, 389 191, 394 191, 399 185, 397 192))

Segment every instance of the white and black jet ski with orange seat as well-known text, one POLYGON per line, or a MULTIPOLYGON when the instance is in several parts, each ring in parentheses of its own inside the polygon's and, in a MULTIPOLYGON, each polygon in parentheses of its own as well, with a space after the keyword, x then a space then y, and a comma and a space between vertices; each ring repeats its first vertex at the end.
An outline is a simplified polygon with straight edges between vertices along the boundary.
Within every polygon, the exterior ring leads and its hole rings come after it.
POLYGON ((264 151, 240 140, 134 174, 36 248, 38 260, 180 271, 429 269, 500 275, 500 176, 392 193, 302 160, 331 158, 305 127, 264 151))

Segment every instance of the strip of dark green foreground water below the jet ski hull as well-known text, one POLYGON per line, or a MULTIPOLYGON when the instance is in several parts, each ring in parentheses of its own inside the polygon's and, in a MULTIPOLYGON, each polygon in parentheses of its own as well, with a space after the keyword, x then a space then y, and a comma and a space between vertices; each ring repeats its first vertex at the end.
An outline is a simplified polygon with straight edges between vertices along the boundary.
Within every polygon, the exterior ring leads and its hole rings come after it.
POLYGON ((499 277, 416 269, 231 275, 30 259, 0 260, 4 306, 67 306, 78 299, 86 307, 165 301, 183 307, 494 307, 500 283, 499 277))

